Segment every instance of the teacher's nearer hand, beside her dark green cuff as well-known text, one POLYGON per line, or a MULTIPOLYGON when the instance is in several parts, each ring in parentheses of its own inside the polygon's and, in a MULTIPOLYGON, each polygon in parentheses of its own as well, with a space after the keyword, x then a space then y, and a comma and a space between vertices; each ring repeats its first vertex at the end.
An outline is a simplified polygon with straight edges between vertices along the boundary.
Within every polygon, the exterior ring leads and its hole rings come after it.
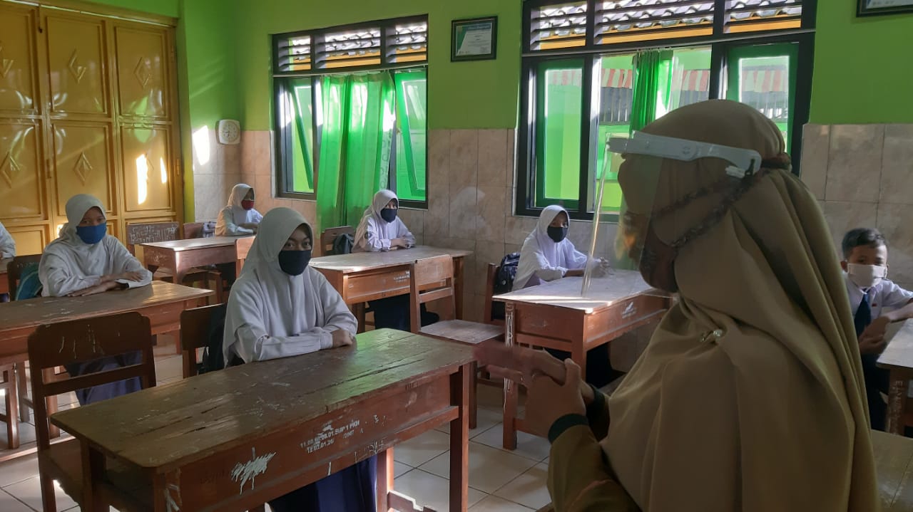
POLYGON ((530 433, 548 437, 551 425, 563 415, 586 415, 580 393, 580 366, 570 359, 564 361, 567 381, 558 384, 545 374, 535 374, 527 388, 524 425, 530 433))

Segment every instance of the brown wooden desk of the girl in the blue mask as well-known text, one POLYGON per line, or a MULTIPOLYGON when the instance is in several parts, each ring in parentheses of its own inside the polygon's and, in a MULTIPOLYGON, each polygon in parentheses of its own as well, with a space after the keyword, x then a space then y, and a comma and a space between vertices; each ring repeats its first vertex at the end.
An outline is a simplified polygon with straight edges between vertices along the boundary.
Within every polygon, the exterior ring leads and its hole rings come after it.
MULTIPOLYGON (((0 364, 26 360, 28 335, 38 325, 119 312, 139 312, 149 318, 152 334, 173 333, 181 330, 181 312, 196 307, 200 299, 212 294, 210 290, 153 281, 140 288, 87 297, 37 297, 0 304, 0 364)), ((20 393, 25 393, 25 390, 20 393)), ((56 410, 57 397, 48 397, 48 413, 56 410)))

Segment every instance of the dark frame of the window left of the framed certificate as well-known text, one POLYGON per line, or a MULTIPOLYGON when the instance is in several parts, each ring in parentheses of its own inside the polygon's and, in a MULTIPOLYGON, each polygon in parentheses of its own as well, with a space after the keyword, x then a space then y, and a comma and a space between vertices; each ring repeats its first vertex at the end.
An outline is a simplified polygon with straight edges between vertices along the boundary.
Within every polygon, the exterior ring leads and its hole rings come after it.
MULTIPOLYGON (((341 26, 329 26, 322 27, 312 30, 299 30, 294 32, 285 32, 280 34, 273 34, 271 36, 272 43, 272 74, 270 79, 272 81, 272 104, 270 105, 270 112, 272 114, 272 127, 274 132, 273 146, 276 158, 273 159, 273 175, 276 177, 274 182, 274 197, 282 199, 292 199, 292 200, 316 200, 317 199, 317 187, 320 183, 320 160, 318 155, 320 155, 320 130, 317 126, 317 116, 314 115, 311 118, 311 129, 313 133, 313 146, 310 148, 311 157, 313 159, 311 163, 311 172, 313 177, 314 191, 313 192, 299 192, 293 189, 292 180, 294 179, 293 173, 293 139, 294 135, 292 130, 286 127, 280 127, 279 124, 281 119, 286 118, 289 112, 284 112, 280 109, 286 108, 287 106, 282 105, 280 98, 284 97, 286 94, 293 94, 291 88, 289 87, 290 81, 293 79, 302 79, 309 78, 311 85, 311 112, 317 112, 318 106, 317 94, 320 89, 320 77, 325 77, 328 75, 352 75, 356 73, 365 73, 371 71, 397 71, 397 70, 407 70, 407 69, 424 69, 425 70, 425 114, 426 117, 429 114, 428 106, 430 104, 429 95, 430 90, 428 90, 428 83, 430 82, 430 69, 427 65, 427 56, 428 56, 428 39, 427 32, 425 32, 425 60, 424 61, 406 61, 406 62, 394 62, 394 55, 390 54, 388 50, 387 40, 390 36, 395 34, 396 26, 404 26, 410 24, 425 23, 427 27, 428 24, 428 15, 409 15, 396 18, 387 18, 383 20, 371 20, 365 22, 359 22, 349 25, 341 26), (328 34, 337 33, 337 32, 350 32, 358 31, 368 28, 380 28, 380 58, 381 63, 377 65, 366 65, 366 66, 350 66, 350 67, 326 67, 326 61, 320 60, 320 52, 317 48, 323 44, 324 38, 328 34), (307 70, 301 71, 278 71, 278 65, 281 56, 279 55, 279 42, 282 40, 288 40, 292 37, 310 37, 310 62, 311 67, 307 70)), ((427 30, 427 29, 426 29, 427 30)), ((398 108, 397 108, 398 110, 398 108)), ((398 112, 397 112, 398 117, 398 112)), ((395 134, 392 148, 395 148, 395 134)), ((414 209, 427 209, 428 208, 428 198, 430 197, 430 183, 428 181, 428 153, 427 151, 427 142, 428 142, 428 130, 425 128, 425 200, 416 201, 416 200, 400 200, 400 206, 404 208, 414 208, 414 209)), ((396 191, 396 155, 394 152, 391 154, 389 169, 388 169, 388 183, 389 187, 396 191)))

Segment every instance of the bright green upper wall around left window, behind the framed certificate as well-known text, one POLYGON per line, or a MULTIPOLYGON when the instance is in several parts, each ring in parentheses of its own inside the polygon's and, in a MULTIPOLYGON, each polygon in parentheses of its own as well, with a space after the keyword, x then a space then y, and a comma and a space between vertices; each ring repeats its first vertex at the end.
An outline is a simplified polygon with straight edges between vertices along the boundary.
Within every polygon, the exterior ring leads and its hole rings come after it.
MULTIPOLYGON (((184 0, 190 1, 190 0, 184 0)), ((404 15, 428 15, 429 128, 517 124, 520 0, 237 0, 236 61, 241 126, 272 128, 271 34, 404 15), (453 19, 498 15, 498 58, 450 62, 453 19)))

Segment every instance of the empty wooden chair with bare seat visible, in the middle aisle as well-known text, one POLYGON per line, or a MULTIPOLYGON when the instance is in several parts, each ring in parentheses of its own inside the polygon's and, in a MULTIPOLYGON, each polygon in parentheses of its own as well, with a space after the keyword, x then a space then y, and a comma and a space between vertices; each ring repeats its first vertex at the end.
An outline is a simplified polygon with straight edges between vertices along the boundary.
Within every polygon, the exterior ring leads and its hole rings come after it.
MULTIPOLYGON (((448 304, 450 315, 454 316, 456 313, 454 262, 453 258, 445 254, 413 261, 409 270, 409 317, 413 333, 470 345, 504 339, 504 328, 490 323, 443 320, 422 327, 421 305, 425 302, 444 300, 448 304)), ((473 382, 469 390, 469 428, 476 426, 477 373, 477 369, 474 368, 473 382)))

